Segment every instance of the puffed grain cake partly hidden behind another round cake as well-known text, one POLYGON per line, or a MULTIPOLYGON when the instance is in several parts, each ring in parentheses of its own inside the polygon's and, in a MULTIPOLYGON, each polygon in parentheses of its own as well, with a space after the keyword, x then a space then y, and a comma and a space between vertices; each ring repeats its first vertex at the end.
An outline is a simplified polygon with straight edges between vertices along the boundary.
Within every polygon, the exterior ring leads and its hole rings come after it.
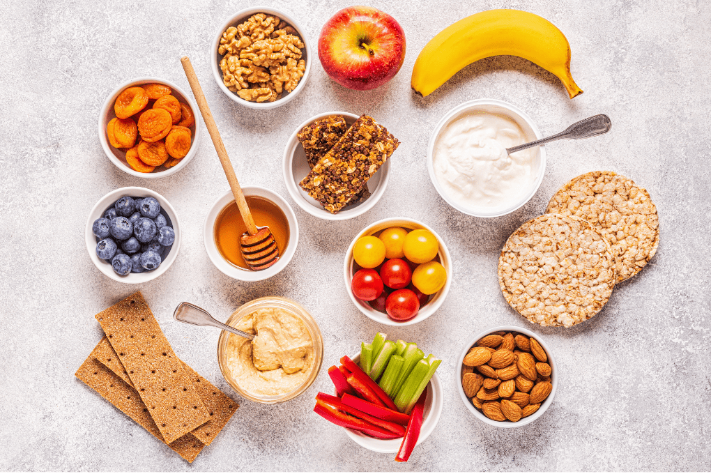
POLYGON ((629 279, 654 257, 659 218, 649 193, 612 171, 592 171, 568 181, 547 212, 582 217, 610 242, 617 282, 629 279))

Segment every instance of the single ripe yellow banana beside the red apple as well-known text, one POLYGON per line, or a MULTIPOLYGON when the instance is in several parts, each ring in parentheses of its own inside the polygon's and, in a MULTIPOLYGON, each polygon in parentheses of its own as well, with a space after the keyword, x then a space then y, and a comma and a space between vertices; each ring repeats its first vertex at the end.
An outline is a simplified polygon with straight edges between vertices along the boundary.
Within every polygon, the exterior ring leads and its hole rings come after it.
POLYGON ((572 99, 582 94, 570 75, 570 45, 553 23, 520 10, 488 10, 444 28, 417 56, 412 89, 423 97, 464 66, 490 56, 528 59, 552 72, 572 99))

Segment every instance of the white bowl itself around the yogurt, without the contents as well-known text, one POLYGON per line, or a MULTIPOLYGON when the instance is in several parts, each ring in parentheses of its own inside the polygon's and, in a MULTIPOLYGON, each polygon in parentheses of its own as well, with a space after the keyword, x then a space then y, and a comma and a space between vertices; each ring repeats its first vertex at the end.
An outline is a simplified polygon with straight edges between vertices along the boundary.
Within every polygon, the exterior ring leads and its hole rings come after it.
POLYGON ((461 117, 461 115, 473 111, 492 112, 506 115, 506 117, 509 117, 521 127, 525 134, 525 143, 528 143, 529 141, 540 140, 543 138, 543 136, 540 134, 538 126, 536 126, 530 119, 530 117, 528 117, 528 115, 526 115, 521 109, 515 107, 514 105, 508 104, 508 102, 503 102, 503 100, 496 99, 477 99, 470 100, 469 102, 464 102, 464 104, 459 104, 458 106, 454 107, 454 109, 451 109, 449 112, 447 112, 447 115, 442 117, 442 120, 440 120, 439 123, 437 123, 437 126, 434 127, 434 131, 432 131, 432 136, 429 139, 429 146, 427 146, 427 170, 429 171, 429 178, 432 180, 434 188, 437 189, 437 193, 439 193, 439 195, 442 196, 442 199, 447 201, 447 203, 451 205, 452 208, 455 208, 460 212, 464 212, 464 214, 473 215, 475 217, 499 217, 501 215, 509 214, 510 212, 513 212, 523 206, 525 203, 528 203, 528 200, 530 200, 530 198, 533 198, 533 195, 536 193, 536 191, 538 191, 538 187, 543 181, 543 175, 545 173, 545 146, 540 145, 534 148, 535 150, 538 150, 537 156, 535 158, 535 165, 538 169, 538 176, 536 177, 535 182, 532 183, 530 190, 528 190, 528 193, 526 193, 523 198, 518 201, 518 203, 510 205, 505 210, 494 210, 493 212, 470 210, 464 207, 463 205, 456 203, 449 197, 449 195, 447 195, 447 191, 444 190, 442 185, 439 183, 437 176, 434 175, 433 155, 434 145, 437 144, 437 140, 439 139, 439 134, 442 133, 442 129, 444 129, 444 127, 449 125, 454 120, 461 117))

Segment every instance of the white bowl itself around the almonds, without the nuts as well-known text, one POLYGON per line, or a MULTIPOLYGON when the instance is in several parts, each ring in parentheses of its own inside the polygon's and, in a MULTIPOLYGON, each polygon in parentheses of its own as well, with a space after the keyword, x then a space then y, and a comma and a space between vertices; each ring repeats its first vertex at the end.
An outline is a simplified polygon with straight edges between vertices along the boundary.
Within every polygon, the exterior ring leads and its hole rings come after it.
POLYGON ((518 426, 524 426, 529 423, 533 423, 533 421, 536 421, 542 414, 545 413, 545 411, 548 409, 550 404, 553 402, 553 397, 555 397, 555 389, 558 387, 558 372, 555 367, 555 358, 553 357, 553 352, 550 350, 550 347, 545 343, 544 340, 541 339, 540 335, 533 333, 532 331, 524 328, 519 328, 518 326, 498 326, 498 328, 491 328, 487 329, 478 335, 476 335, 475 338, 469 340, 469 343, 467 343, 464 346, 464 349, 461 350, 459 353, 459 358, 456 360, 457 361, 457 372, 456 372, 456 386, 457 390, 459 391, 459 397, 461 398, 461 401, 464 403, 464 406, 471 411, 471 413, 476 416, 476 418, 480 419, 486 424, 490 424, 491 426, 497 426, 498 428, 518 428, 518 426), (550 383, 553 385, 553 389, 550 391, 550 395, 543 401, 542 405, 540 408, 530 416, 526 416, 525 418, 520 419, 519 421, 494 421, 492 419, 487 418, 486 416, 481 413, 478 409, 476 409, 476 406, 471 403, 471 400, 466 397, 464 394, 464 389, 461 387, 461 367, 464 365, 464 356, 466 355, 467 352, 471 348, 474 347, 474 344, 476 344, 476 341, 479 339, 483 338, 485 335, 489 335, 491 333, 496 333, 496 331, 506 331, 508 332, 513 332, 513 333, 521 333, 528 335, 529 338, 534 338, 537 340, 541 347, 545 350, 546 355, 548 356, 548 365, 552 368, 553 372, 550 375, 550 383))

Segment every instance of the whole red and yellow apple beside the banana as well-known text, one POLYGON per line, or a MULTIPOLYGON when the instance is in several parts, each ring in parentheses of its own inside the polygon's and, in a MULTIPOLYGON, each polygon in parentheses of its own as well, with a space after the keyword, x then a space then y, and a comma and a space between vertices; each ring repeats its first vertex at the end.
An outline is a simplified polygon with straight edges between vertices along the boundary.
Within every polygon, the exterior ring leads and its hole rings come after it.
POLYGON ((405 60, 405 31, 383 11, 349 6, 321 29, 319 59, 326 74, 343 87, 375 89, 400 70, 405 60))

